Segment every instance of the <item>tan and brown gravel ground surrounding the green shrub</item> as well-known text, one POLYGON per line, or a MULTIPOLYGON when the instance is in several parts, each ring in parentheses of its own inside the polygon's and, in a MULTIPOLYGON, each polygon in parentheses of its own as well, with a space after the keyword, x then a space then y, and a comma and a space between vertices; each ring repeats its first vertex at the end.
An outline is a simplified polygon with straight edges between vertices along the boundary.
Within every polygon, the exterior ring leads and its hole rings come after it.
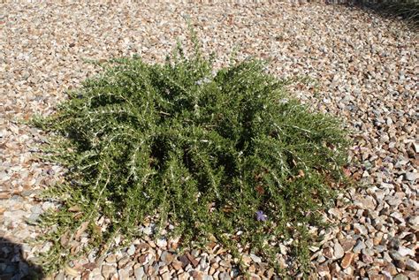
MULTIPOLYGON (((66 89, 95 73, 86 59, 137 53, 146 61, 163 62, 176 39, 186 39, 185 18, 194 23, 204 49, 216 52, 217 65, 239 47, 239 58, 273 57, 270 71, 280 77, 315 79, 294 83, 293 94, 313 109, 341 117, 352 131, 353 165, 347 171, 361 187, 349 189, 343 198, 348 203, 326 214, 339 225, 313 229, 324 236, 310 248, 316 275, 419 278, 419 44, 402 22, 327 4, 42 2, 0 7, 1 279, 26 276, 34 252, 49 246, 28 244, 41 232, 32 223, 54 207, 36 196, 61 179, 58 166, 34 158, 45 138, 22 120, 50 114, 66 89)), ((185 255, 171 254, 174 247, 164 239, 136 240, 104 260, 90 255, 73 263, 78 276, 67 269, 55 279, 237 276, 232 256, 215 244, 208 253, 185 255)), ((253 279, 272 276, 258 256, 245 254, 243 260, 253 279)))

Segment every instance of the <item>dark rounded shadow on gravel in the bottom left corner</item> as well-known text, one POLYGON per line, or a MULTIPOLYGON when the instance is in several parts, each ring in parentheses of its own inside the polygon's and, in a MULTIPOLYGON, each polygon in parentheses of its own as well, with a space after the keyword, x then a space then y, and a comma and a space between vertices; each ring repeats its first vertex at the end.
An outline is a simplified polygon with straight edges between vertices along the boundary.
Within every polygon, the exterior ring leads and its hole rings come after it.
POLYGON ((22 246, 0 237, 0 279, 43 279, 42 268, 26 261, 22 246))

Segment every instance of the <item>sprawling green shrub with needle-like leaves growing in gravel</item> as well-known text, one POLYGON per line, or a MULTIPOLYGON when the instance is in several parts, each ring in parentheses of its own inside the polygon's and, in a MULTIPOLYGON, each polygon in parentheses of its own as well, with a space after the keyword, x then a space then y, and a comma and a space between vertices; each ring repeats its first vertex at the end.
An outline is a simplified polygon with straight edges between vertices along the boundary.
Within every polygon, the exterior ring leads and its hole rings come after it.
POLYGON ((67 168, 44 193, 61 205, 42 216, 50 272, 105 254, 118 235, 127 245, 150 222, 155 238, 182 248, 217 242, 239 260, 263 256, 277 273, 309 272, 309 229, 324 225, 344 183, 346 133, 291 98, 263 62, 215 72, 193 42, 192 55, 178 46, 165 64, 102 64, 54 115, 34 119, 51 135, 43 155, 67 168))

